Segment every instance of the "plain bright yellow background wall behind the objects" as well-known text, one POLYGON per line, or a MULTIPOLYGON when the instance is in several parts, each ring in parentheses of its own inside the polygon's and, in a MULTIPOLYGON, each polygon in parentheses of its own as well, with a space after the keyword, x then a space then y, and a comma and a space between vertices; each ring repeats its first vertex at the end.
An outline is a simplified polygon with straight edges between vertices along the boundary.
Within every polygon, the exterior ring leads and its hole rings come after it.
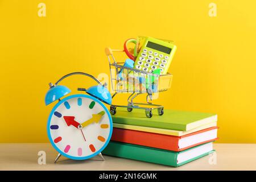
MULTIPOLYGON (((172 88, 156 103, 217 113, 220 143, 256 143, 255 7, 238 0, 0 1, 0 142, 48 142, 48 82, 74 71, 109 74, 104 48, 143 35, 177 46, 172 88), (38 16, 40 2, 46 17, 38 16), (210 2, 217 17, 208 15, 210 2)), ((63 84, 95 83, 75 76, 63 84)))

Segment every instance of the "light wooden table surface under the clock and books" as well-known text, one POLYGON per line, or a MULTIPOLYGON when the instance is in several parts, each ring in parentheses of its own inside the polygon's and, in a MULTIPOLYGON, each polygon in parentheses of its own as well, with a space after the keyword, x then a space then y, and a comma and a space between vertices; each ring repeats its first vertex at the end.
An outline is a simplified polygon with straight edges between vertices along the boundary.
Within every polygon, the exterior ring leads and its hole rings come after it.
POLYGON ((99 156, 89 160, 70 160, 61 156, 55 164, 57 152, 49 143, 0 144, 0 170, 256 170, 256 144, 214 144, 213 156, 195 160, 181 167, 170 167, 137 160, 99 156), (46 152, 46 164, 38 164, 38 152, 46 152), (211 161, 211 163, 209 163, 211 161))

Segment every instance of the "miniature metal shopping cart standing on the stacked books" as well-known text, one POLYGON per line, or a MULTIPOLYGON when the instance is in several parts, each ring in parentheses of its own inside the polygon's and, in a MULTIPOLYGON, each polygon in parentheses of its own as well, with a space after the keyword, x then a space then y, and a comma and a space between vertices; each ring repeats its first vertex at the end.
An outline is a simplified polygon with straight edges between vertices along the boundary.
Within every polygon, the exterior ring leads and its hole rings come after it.
POLYGON ((123 52, 119 49, 106 48, 105 53, 108 56, 110 79, 114 98, 118 93, 131 93, 127 99, 127 105, 110 105, 110 113, 114 115, 117 112, 117 107, 126 107, 127 111, 133 109, 144 109, 148 118, 152 117, 152 110, 158 109, 158 114, 164 114, 162 105, 152 104, 152 94, 163 92, 171 87, 172 75, 158 75, 138 69, 128 68, 123 63, 117 63, 113 56, 113 52, 123 52), (146 103, 134 102, 134 98, 139 94, 146 95, 146 103))

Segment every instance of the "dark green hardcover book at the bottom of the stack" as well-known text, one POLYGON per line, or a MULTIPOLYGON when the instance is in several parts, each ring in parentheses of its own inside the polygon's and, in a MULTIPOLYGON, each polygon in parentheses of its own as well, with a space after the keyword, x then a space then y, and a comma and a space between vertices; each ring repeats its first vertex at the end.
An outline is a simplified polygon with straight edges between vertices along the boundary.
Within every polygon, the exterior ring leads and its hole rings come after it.
POLYGON ((174 152, 110 141, 108 146, 102 151, 102 154, 178 167, 206 156, 213 151, 212 142, 201 144, 200 146, 189 148, 181 152, 174 152))

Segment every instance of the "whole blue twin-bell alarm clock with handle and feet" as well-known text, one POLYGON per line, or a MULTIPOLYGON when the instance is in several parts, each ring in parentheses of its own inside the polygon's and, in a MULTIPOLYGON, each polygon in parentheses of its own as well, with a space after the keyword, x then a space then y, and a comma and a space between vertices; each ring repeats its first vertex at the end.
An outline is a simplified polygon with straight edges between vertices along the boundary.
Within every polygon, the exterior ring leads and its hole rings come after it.
POLYGON ((54 85, 49 84, 46 105, 58 100, 48 117, 47 135, 52 146, 59 154, 74 160, 84 160, 99 155, 108 145, 112 136, 112 117, 107 107, 111 104, 112 96, 105 85, 87 73, 74 72, 60 78, 54 85), (73 94, 66 86, 58 85, 61 80, 72 75, 85 75, 93 78, 99 85, 89 89, 79 88, 88 94, 73 94))

